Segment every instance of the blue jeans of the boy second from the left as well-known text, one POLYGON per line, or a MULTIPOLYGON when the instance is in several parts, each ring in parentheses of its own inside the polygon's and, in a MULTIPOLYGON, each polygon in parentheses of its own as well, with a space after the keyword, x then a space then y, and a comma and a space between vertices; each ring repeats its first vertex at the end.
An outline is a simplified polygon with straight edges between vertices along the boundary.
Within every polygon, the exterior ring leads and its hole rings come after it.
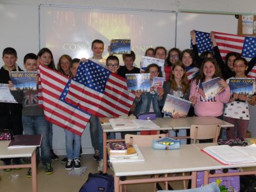
MULTIPOLYGON (((22 115, 22 125, 25 134, 42 134, 41 160, 42 163, 51 163, 51 152, 49 145, 49 127, 43 115, 22 115)), ((36 150, 36 163, 39 163, 39 149, 36 150)))

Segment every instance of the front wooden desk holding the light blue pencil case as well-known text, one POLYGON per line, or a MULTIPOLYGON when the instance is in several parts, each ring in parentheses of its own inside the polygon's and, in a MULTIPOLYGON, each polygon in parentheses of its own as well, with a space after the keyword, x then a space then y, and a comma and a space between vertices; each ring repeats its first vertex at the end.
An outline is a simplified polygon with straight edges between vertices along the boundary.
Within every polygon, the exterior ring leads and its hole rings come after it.
POLYGON ((154 150, 151 147, 140 147, 140 150, 145 158, 144 162, 113 163, 113 169, 115 171, 115 192, 119 192, 123 184, 164 182, 184 179, 191 179, 191 187, 196 188, 197 171, 221 168, 220 163, 202 153, 194 144, 181 145, 178 150, 154 150), (120 180, 121 176, 182 172, 192 172, 192 174, 177 177, 120 180))

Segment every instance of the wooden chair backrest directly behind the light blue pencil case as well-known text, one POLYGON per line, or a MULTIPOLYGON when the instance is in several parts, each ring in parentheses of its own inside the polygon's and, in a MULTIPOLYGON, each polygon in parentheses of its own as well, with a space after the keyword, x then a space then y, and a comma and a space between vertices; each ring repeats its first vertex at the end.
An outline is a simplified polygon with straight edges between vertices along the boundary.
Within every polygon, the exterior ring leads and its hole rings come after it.
POLYGON ((131 143, 132 145, 138 145, 138 147, 148 147, 152 145, 153 140, 159 140, 165 138, 165 134, 150 134, 150 135, 137 135, 137 134, 125 134, 125 143, 131 143))

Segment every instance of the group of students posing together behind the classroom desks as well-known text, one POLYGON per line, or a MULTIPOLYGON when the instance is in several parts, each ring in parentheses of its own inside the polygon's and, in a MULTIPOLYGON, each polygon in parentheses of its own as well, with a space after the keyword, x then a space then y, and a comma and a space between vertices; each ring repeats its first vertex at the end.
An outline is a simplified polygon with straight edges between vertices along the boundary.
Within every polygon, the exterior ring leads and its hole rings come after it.
MULTIPOLYGON (((179 49, 172 48, 170 51, 166 51, 164 47, 156 47, 155 49, 149 48, 145 51, 145 56, 150 56, 158 59, 165 60, 164 67, 171 68, 166 70, 167 81, 164 82, 163 88, 159 92, 135 92, 136 96, 134 103, 130 109, 130 114, 138 115, 139 113, 152 112, 157 117, 170 117, 162 113, 162 108, 167 94, 180 97, 182 99, 190 100, 192 107, 189 110, 188 116, 214 116, 223 119, 223 111, 225 106, 236 106, 237 100, 242 102, 244 108, 249 111, 249 104, 255 105, 255 95, 243 95, 233 93, 230 95, 230 88, 228 81, 230 77, 243 77, 246 78, 248 72, 253 68, 256 63, 256 58, 253 58, 249 63, 244 58, 241 58, 236 52, 230 52, 226 56, 226 60, 223 61, 220 56, 220 51, 214 39, 214 34, 211 33, 213 51, 204 52, 198 55, 195 31, 190 32, 193 49, 185 49, 180 51, 179 49), (216 95, 214 98, 205 100, 199 93, 198 84, 213 79, 214 77, 221 77, 219 85, 224 88, 224 91, 216 95)), ((103 67, 106 67, 111 72, 125 77, 125 74, 138 74, 141 72, 140 68, 134 67, 134 61, 136 55, 133 51, 131 54, 123 54, 124 66, 119 65, 119 60, 116 56, 109 55, 105 60, 102 58, 104 51, 104 42, 101 40, 94 40, 92 42, 92 60, 103 67)), ((12 82, 10 81, 10 71, 21 71, 16 64, 17 52, 12 47, 7 47, 3 51, 4 65, 0 69, 0 83, 8 83, 12 88, 12 82)), ((57 69, 55 68, 52 52, 47 49, 41 49, 38 54, 29 53, 24 57, 24 67, 27 71, 36 71, 38 63, 45 65, 52 70, 58 70, 61 74, 73 78, 76 76, 77 68, 79 67, 79 61, 86 61, 82 58, 72 58, 67 54, 60 57, 58 61, 57 69)), ((158 65, 152 63, 148 65, 145 73, 150 74, 150 84, 154 77, 162 77, 162 72, 158 65)), ((255 85, 253 86, 255 92, 255 85)), ((19 104, 0 102, 0 120, 3 123, 4 129, 12 129, 14 134, 43 134, 43 140, 41 145, 41 160, 44 164, 46 174, 53 172, 51 166, 51 151, 52 151, 52 124, 47 122, 44 118, 44 111, 38 107, 38 104, 29 104, 24 102, 26 95, 34 95, 38 97, 38 92, 35 91, 11 91, 13 97, 19 104), (23 108, 22 108, 23 104, 23 108)), ((172 118, 182 118, 179 113, 172 115, 172 118)), ((246 130, 249 120, 241 118, 225 117, 227 122, 235 124, 235 127, 230 127, 227 131, 227 138, 245 138, 246 130)), ((124 138, 125 132, 122 132, 121 136, 124 138)), ((136 134, 136 132, 134 133, 136 134)), ((144 131, 141 134, 156 134, 155 131, 144 131)), ((186 136, 186 130, 180 130, 177 132, 170 132, 170 136, 178 134, 178 136, 186 136)), ((100 120, 97 116, 91 116, 90 118, 90 136, 92 146, 95 150, 93 159, 99 161, 98 171, 102 171, 103 165, 103 136, 100 120)), ((115 134, 108 135, 108 139, 114 139, 115 134)), ((73 132, 65 130, 66 140, 66 152, 67 157, 61 160, 66 163, 65 168, 67 170, 81 168, 81 162, 79 156, 81 154, 81 136, 74 134, 73 132)), ((184 143, 186 143, 184 141, 184 143)), ((37 151, 38 153, 38 151, 37 151)), ((53 153, 53 151, 52 151, 53 153)), ((54 154, 54 153, 53 153, 54 154)), ((55 155, 55 154, 54 154, 55 155)), ((55 155, 56 156, 56 155, 55 155)), ((37 157, 37 163, 39 163, 39 154, 37 157)), ((57 156, 58 158, 58 156, 57 156)), ((11 159, 3 159, 4 164, 10 164, 11 159)), ((13 164, 20 163, 20 159, 13 159, 13 164)), ((7 169, 6 171, 10 171, 7 169)), ((31 170, 29 169, 27 177, 31 177, 31 170)))

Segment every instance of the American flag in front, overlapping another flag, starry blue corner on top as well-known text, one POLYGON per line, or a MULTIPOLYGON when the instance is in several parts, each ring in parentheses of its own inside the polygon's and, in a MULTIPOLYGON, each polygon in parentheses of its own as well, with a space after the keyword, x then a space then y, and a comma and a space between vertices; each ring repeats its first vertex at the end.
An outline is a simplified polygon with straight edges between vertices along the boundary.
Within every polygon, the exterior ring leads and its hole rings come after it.
POLYGON ((65 101, 95 116, 127 116, 135 95, 125 79, 93 61, 80 63, 65 101))

